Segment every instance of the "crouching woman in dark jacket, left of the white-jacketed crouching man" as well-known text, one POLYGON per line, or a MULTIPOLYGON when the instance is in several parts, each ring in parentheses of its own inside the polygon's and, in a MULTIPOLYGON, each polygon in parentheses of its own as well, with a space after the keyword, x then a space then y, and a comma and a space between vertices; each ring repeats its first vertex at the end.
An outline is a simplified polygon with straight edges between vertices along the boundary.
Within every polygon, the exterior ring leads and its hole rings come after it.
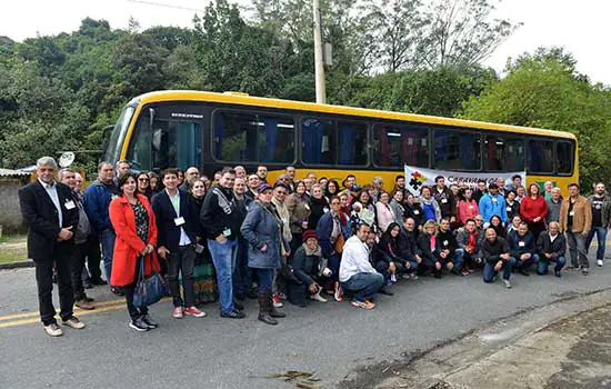
POLYGON ((327 260, 322 258, 315 231, 303 232, 303 245, 294 252, 291 267, 296 280, 300 282, 289 281, 289 301, 306 307, 306 297, 310 296, 312 300, 327 302, 327 299, 320 296, 322 287, 317 281, 330 275, 331 270, 327 268, 327 260))

